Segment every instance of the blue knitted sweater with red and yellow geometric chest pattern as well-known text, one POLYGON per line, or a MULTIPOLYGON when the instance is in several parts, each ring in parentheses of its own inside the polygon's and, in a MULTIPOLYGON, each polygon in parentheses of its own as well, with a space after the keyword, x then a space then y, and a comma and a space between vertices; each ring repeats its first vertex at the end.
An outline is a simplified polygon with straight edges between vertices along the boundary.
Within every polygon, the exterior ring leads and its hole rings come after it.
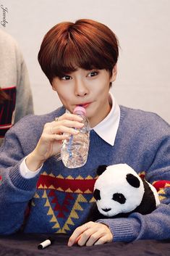
POLYGON ((128 218, 104 219, 114 241, 170 238, 170 128, 158 115, 120 106, 120 122, 114 146, 90 131, 88 161, 68 169, 50 157, 35 178, 22 178, 20 163, 33 151, 43 125, 65 112, 64 107, 48 115, 30 115, 14 125, 0 149, 0 234, 24 232, 67 233, 85 222, 93 202, 98 165, 127 163, 155 183, 161 205, 148 215, 132 213, 128 218), (30 202, 30 204, 29 204, 30 202))

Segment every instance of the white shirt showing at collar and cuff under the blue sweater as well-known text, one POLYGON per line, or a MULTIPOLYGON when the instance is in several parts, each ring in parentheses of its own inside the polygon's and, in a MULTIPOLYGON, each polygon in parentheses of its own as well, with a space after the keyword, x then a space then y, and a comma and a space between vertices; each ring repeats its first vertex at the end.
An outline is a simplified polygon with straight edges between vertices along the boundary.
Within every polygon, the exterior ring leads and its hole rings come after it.
MULTIPOLYGON (((93 127, 93 130, 95 131, 95 133, 98 134, 98 136, 101 137, 101 139, 109 143, 111 146, 114 146, 116 133, 119 127, 120 107, 116 103, 116 100, 114 99, 114 96, 111 94, 111 92, 109 93, 109 103, 111 104, 111 111, 109 112, 109 115, 107 115, 101 121, 101 123, 95 125, 95 127, 93 127)), ((33 172, 27 168, 25 162, 26 158, 27 157, 25 157, 20 165, 21 176, 24 178, 33 178, 41 171, 43 165, 41 166, 41 168, 33 172)))

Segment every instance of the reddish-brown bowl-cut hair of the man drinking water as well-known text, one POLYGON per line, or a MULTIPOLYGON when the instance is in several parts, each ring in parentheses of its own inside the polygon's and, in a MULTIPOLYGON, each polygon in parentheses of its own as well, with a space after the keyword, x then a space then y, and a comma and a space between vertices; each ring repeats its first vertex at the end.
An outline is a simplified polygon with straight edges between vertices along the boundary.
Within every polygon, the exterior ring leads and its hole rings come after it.
POLYGON ((46 33, 38 61, 50 83, 77 70, 112 69, 119 56, 119 42, 113 31, 94 20, 61 22, 46 33))

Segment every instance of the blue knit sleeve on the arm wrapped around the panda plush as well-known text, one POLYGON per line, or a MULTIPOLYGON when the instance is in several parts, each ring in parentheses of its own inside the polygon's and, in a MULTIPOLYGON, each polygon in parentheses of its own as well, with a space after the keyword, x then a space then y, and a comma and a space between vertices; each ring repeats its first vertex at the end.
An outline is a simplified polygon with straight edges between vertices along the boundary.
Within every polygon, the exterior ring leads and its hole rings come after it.
POLYGON ((128 218, 98 220, 97 222, 109 226, 114 241, 158 240, 170 237, 170 136, 164 134, 158 145, 145 179, 156 186, 161 205, 148 215, 135 212, 128 218))

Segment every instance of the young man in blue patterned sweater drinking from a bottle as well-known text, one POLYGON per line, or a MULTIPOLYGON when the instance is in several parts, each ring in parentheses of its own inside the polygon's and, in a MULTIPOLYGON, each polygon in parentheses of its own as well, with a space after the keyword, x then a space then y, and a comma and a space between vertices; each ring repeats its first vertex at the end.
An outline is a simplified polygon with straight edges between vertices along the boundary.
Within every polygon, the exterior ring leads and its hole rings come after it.
POLYGON ((69 246, 170 237, 169 124, 156 114, 116 104, 109 88, 118 55, 114 33, 93 20, 61 22, 43 38, 38 60, 63 106, 25 117, 7 133, 0 153, 1 234, 19 230, 25 219, 25 232, 72 234, 69 246), (82 127, 72 114, 80 104, 91 127, 88 161, 68 169, 56 154, 67 134, 82 127), (149 215, 85 223, 96 168, 117 163, 160 186, 161 205, 149 215))

